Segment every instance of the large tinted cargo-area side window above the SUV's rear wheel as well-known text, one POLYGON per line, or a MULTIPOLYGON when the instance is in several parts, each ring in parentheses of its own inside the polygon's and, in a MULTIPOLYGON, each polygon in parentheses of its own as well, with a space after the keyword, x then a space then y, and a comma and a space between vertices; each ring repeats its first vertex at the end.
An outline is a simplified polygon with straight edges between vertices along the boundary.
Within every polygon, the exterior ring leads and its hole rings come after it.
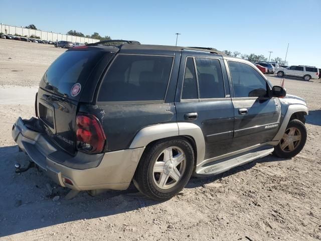
POLYGON ((164 100, 173 57, 118 55, 100 86, 98 101, 164 100))

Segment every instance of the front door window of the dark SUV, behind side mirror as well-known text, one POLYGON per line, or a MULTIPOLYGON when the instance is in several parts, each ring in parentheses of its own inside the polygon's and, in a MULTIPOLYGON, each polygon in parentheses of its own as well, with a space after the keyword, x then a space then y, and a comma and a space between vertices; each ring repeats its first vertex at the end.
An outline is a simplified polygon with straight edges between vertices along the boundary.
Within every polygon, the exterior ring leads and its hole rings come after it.
POLYGON ((250 65, 229 61, 235 97, 267 96, 265 79, 250 65))

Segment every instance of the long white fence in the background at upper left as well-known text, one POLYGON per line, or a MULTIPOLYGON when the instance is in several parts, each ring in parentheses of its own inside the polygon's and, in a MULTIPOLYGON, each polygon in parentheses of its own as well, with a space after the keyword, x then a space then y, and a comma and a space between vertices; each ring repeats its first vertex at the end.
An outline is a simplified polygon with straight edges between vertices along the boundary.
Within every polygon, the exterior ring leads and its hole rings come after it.
POLYGON ((92 38, 85 38, 85 37, 78 37, 78 36, 72 36, 72 35, 66 35, 66 34, 58 34, 53 32, 46 32, 41 30, 34 30, 34 29, 26 29, 22 27, 16 27, 16 26, 10 26, 10 25, 4 25, 0 24, 0 33, 8 34, 8 35, 21 35, 25 37, 30 37, 31 35, 40 37, 42 40, 47 41, 70 41, 73 43, 96 43, 99 40, 98 39, 92 39, 92 38))

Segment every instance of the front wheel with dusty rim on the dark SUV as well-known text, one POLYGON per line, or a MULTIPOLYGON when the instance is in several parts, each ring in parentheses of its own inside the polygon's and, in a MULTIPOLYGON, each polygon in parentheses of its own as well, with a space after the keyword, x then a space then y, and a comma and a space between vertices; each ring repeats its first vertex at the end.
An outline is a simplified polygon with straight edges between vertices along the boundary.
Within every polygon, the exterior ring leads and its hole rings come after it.
POLYGON ((298 119, 292 119, 292 121, 287 124, 282 140, 274 147, 273 155, 281 158, 292 158, 296 156, 304 147, 306 136, 307 132, 304 124, 298 119), (289 144, 286 145, 287 143, 289 144))

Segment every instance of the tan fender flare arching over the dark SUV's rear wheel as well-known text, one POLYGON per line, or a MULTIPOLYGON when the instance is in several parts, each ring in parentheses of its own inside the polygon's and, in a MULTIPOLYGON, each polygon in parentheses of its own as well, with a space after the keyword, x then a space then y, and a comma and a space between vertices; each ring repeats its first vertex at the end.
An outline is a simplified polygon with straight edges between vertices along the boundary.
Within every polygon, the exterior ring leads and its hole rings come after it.
POLYGON ((205 140, 201 128, 193 123, 166 123, 157 124, 141 129, 129 148, 140 148, 146 147, 149 143, 168 138, 178 136, 189 136, 192 137, 196 144, 197 160, 196 165, 204 161, 205 157, 205 140))

